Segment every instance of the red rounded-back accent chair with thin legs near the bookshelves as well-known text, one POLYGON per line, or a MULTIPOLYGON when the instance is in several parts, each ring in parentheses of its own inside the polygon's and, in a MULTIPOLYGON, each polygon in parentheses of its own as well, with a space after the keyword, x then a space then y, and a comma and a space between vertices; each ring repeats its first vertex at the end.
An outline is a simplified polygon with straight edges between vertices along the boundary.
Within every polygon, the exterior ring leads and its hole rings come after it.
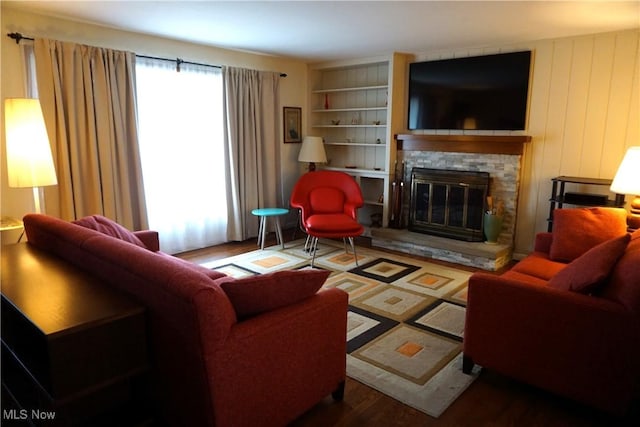
POLYGON ((364 200, 352 176, 337 171, 307 172, 293 188, 290 203, 300 209, 302 227, 311 236, 312 267, 319 238, 349 239, 358 264, 353 238, 364 232, 357 215, 364 200))

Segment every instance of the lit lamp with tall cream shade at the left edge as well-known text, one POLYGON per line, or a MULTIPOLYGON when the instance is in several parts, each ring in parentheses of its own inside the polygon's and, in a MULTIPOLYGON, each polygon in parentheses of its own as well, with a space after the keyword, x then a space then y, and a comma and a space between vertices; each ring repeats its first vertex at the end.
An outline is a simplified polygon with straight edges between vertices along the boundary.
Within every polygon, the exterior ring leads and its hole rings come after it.
POLYGON ((40 101, 7 98, 4 111, 9 187, 33 188, 34 211, 42 213, 40 187, 56 185, 58 179, 40 101))

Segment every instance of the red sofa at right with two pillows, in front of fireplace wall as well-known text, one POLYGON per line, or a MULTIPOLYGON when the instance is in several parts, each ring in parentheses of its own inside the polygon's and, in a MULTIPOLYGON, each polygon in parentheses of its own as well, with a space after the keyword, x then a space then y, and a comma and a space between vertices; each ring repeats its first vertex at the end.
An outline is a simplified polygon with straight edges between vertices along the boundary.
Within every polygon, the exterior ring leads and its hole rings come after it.
POLYGON ((556 210, 531 255, 500 276, 474 273, 463 370, 624 415, 640 386, 640 230, 626 233, 625 216, 556 210))

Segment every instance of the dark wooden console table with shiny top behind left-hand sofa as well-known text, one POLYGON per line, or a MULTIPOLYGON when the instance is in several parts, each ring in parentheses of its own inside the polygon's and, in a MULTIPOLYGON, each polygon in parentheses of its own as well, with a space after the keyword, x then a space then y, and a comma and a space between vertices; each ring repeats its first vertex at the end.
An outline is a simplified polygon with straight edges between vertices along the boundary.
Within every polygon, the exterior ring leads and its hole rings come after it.
POLYGON ((28 243, 2 248, 2 361, 3 423, 148 417, 144 307, 28 243))

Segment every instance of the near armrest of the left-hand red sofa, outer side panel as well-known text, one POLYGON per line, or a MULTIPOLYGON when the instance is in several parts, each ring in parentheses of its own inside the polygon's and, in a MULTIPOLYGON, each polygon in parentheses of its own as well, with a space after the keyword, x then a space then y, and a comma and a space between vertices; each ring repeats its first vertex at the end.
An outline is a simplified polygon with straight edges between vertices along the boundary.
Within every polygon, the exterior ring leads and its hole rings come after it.
POLYGON ((347 304, 326 289, 235 324, 207 355, 216 423, 285 425, 335 391, 346 376, 347 304))

